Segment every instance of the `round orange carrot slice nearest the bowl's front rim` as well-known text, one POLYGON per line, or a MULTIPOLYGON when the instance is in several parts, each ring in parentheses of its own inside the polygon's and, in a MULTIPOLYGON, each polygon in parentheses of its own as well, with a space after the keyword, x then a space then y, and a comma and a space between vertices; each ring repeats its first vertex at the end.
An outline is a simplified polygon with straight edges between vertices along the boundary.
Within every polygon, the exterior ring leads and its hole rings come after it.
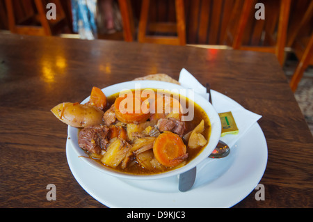
POLYGON ((154 141, 154 157, 164 166, 177 166, 188 157, 186 145, 177 134, 163 132, 154 141))

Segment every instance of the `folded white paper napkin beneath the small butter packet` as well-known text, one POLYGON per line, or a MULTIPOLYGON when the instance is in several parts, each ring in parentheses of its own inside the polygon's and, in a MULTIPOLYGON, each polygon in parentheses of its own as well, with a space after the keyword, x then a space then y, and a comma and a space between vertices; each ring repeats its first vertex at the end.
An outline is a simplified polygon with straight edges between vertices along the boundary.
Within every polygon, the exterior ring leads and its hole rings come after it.
MULTIPOLYGON (((209 100, 209 93, 207 93, 207 88, 202 86, 200 82, 193 77, 193 75, 186 69, 182 69, 179 74, 179 83, 185 87, 195 90, 195 93, 202 95, 205 99, 209 100)), ((232 146, 239 140, 239 138, 245 134, 250 127, 259 120, 262 116, 252 113, 247 109, 244 109, 240 104, 233 102, 228 97, 218 97, 218 102, 214 102, 214 93, 211 95, 212 104, 218 113, 224 113, 231 111, 232 116, 239 129, 239 134, 227 134, 220 137, 220 140, 227 143, 227 145, 232 148, 232 146)))

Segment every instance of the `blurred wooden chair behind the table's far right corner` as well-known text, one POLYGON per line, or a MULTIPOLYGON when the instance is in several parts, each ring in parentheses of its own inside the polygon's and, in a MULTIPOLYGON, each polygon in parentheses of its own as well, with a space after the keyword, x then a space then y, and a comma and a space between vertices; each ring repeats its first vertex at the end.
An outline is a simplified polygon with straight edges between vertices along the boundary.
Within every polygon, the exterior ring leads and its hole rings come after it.
MULTIPOLYGON (((279 10, 279 17, 278 17, 278 31, 277 31, 276 40, 274 40, 273 37, 271 36, 275 29, 275 20, 273 20, 272 18, 269 19, 268 17, 265 18, 265 21, 266 19, 268 19, 268 21, 271 22, 270 25, 265 26, 265 29, 266 29, 265 38, 269 39, 269 41, 273 43, 272 44, 273 46, 268 46, 268 47, 244 46, 243 45, 243 38, 244 38, 243 34, 247 27, 247 23, 249 22, 249 16, 252 12, 254 16, 255 3, 256 1, 245 0, 243 2, 242 10, 240 10, 240 7, 241 7, 240 5, 242 4, 242 2, 241 1, 235 2, 234 8, 233 8, 234 13, 232 14, 232 18, 230 19, 230 24, 228 26, 229 29, 227 29, 226 38, 231 39, 231 42, 232 42, 231 45, 233 49, 266 51, 266 52, 274 53, 277 56, 278 61, 280 62, 280 65, 283 65, 284 47, 286 45, 287 26, 289 22, 289 10, 290 10, 291 0, 280 1, 280 10, 279 10), (234 24, 234 22, 236 22, 236 17, 239 17, 239 21, 237 22, 237 24, 234 24)), ((274 15, 271 15, 271 16, 276 16, 276 15, 274 13, 274 15)), ((264 22, 260 24, 263 26, 264 22)), ((260 32, 259 36, 261 36, 262 29, 259 29, 259 32, 260 32)))

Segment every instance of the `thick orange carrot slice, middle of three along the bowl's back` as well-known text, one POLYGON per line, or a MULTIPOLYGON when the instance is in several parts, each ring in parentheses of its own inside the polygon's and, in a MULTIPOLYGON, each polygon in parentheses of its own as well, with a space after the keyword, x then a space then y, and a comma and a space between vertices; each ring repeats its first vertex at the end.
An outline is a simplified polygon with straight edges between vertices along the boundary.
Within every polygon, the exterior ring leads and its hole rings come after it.
POLYGON ((149 102, 131 92, 118 97, 114 102, 115 116, 121 122, 145 122, 150 116, 149 102))

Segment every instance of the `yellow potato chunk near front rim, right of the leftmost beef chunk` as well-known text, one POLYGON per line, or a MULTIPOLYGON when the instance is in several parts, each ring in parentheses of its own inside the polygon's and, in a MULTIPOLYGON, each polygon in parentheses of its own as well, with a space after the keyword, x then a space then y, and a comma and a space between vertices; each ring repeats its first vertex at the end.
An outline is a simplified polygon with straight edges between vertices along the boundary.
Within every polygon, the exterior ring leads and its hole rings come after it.
POLYGON ((120 162, 125 159, 126 154, 129 152, 130 149, 131 145, 129 145, 122 139, 117 138, 115 139, 115 141, 110 143, 101 161, 107 166, 116 168, 120 164, 120 162))

